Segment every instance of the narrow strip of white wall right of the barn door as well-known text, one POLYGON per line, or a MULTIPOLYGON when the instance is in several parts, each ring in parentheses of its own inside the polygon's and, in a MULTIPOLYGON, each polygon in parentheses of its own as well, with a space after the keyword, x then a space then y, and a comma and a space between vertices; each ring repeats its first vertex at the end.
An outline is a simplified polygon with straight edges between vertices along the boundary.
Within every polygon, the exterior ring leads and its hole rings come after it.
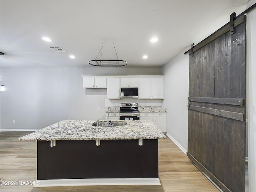
MULTIPOLYGON (((251 0, 249 8, 255 4, 251 0)), ((256 9, 247 14, 247 47, 246 47, 246 72, 247 72, 247 128, 248 128, 248 169, 249 191, 256 191, 256 9)))

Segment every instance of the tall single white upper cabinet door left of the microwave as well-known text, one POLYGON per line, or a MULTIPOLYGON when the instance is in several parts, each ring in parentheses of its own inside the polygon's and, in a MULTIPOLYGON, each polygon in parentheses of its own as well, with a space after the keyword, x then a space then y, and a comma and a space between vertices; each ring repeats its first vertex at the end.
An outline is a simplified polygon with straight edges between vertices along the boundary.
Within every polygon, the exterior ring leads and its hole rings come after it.
POLYGON ((107 79, 107 96, 108 99, 120 99, 120 80, 119 78, 107 79))

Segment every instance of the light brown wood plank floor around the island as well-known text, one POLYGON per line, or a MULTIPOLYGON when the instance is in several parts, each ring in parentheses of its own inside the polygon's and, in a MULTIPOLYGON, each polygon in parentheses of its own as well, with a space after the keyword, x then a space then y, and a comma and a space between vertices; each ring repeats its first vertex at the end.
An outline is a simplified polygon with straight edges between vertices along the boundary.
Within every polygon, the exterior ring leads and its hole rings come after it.
POLYGON ((16 181, 16 186, 0 185, 1 192, 218 192, 169 138, 159 140, 160 186, 19 186, 36 180, 36 142, 18 141, 28 133, 0 132, 0 182, 16 181))

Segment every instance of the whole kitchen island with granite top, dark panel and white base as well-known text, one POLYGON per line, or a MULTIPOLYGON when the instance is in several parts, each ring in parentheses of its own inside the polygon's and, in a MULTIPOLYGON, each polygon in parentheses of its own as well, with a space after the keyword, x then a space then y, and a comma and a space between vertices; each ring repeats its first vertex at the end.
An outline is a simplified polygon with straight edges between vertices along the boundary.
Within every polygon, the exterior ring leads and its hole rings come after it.
POLYGON ((39 186, 160 184, 158 139, 150 120, 93 126, 65 120, 19 138, 37 141, 39 186))

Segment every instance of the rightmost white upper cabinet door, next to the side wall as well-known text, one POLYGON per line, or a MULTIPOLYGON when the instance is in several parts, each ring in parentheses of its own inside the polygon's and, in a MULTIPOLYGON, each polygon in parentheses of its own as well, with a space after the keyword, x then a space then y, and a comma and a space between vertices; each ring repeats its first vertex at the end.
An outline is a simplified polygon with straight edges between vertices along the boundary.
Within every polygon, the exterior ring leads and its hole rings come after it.
POLYGON ((151 98, 152 99, 164 98, 164 78, 162 77, 151 78, 151 98))

